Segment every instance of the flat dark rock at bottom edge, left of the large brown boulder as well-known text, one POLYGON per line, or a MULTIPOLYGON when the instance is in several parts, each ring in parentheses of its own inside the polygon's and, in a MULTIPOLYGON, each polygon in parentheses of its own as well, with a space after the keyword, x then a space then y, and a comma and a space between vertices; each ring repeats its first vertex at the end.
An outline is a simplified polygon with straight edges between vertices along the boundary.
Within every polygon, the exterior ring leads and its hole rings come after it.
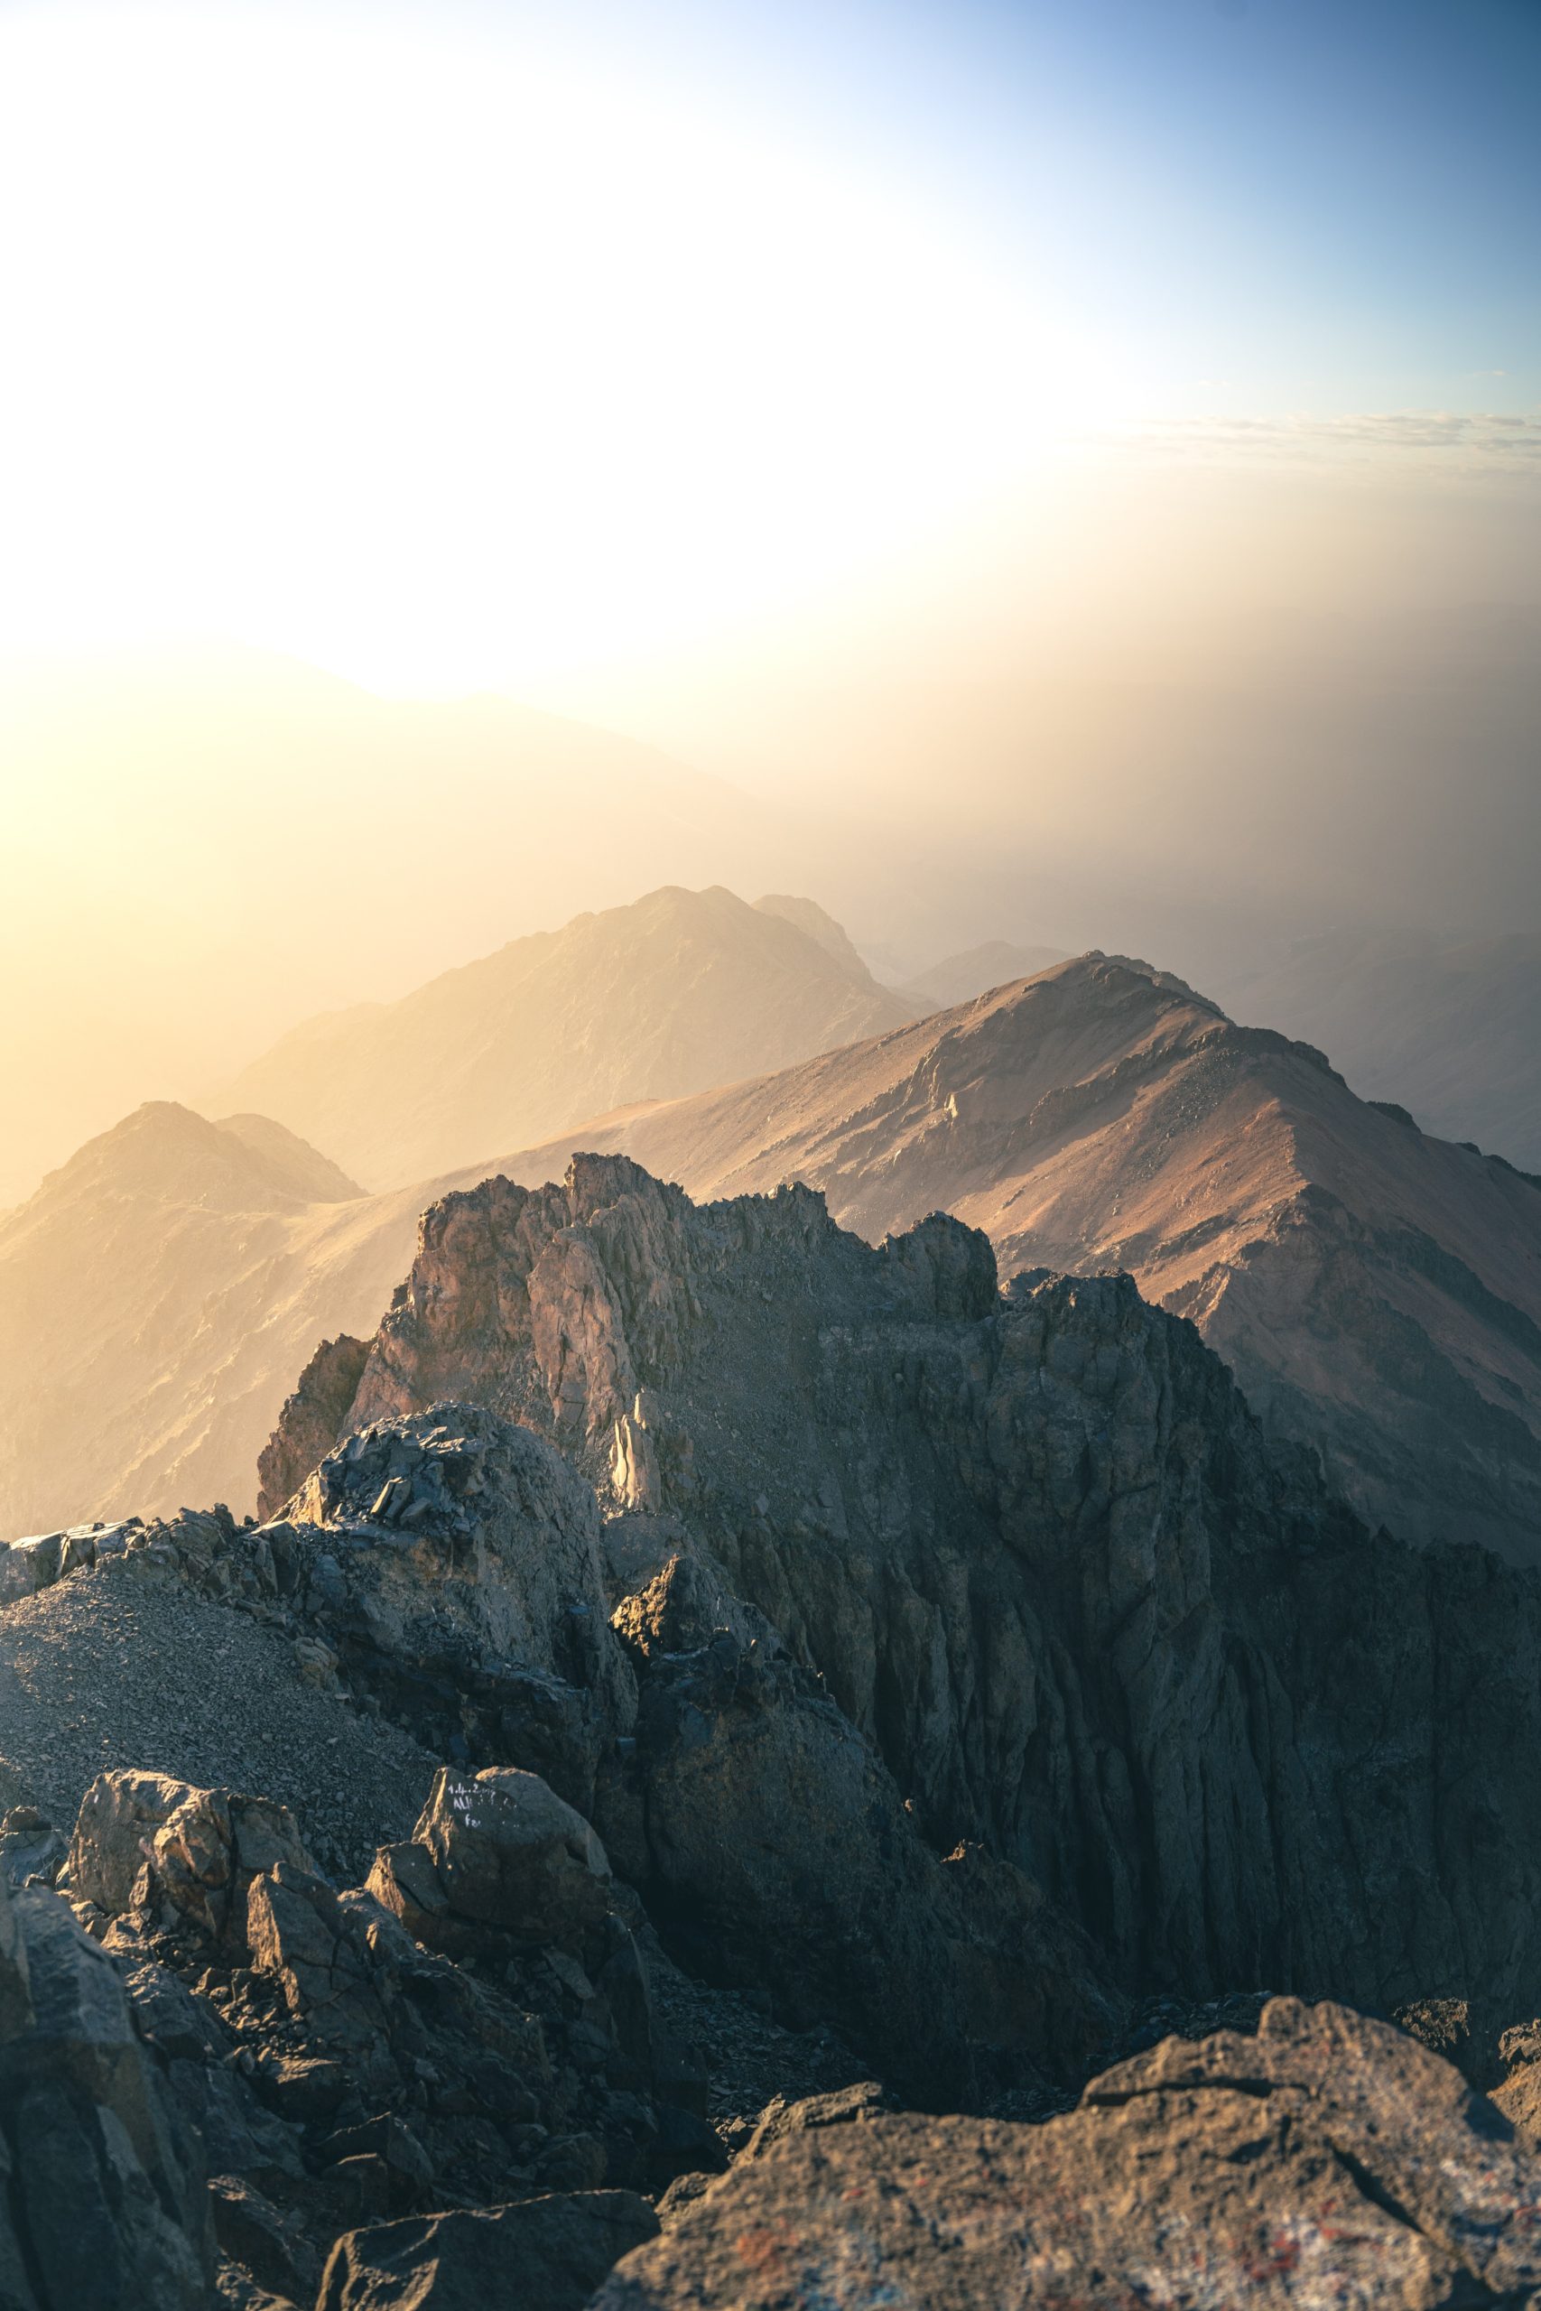
POLYGON ((381 2223, 337 2239, 317 2311, 580 2311, 656 2230, 654 2209, 631 2191, 381 2223))

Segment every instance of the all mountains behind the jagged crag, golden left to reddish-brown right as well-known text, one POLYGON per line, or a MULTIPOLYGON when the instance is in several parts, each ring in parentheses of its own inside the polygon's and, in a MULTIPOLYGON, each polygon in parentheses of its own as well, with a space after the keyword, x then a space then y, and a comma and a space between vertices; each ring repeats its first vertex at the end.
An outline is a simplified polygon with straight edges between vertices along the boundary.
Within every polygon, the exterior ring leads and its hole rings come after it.
POLYGON ((284 1391, 374 1329, 418 1211, 598 1149, 695 1197, 804 1179, 873 1239, 943 1206, 1005 1276, 1127 1269, 1365 1514, 1541 1560, 1536 1186, 1148 964, 920 1001, 811 901, 665 890, 317 1021, 236 1121, 129 1116, 0 1220, 0 1530, 250 1507, 284 1391), (554 1121, 520 1149, 520 1116, 554 1121))

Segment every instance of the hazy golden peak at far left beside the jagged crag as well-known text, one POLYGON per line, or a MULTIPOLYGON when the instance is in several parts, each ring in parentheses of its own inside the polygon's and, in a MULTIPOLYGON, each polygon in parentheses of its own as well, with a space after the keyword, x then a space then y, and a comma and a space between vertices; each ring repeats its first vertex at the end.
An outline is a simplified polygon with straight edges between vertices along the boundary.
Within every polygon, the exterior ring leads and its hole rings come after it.
POLYGON ((0 1218, 0 1532, 247 1509, 284 1375, 411 1255, 397 1202, 266 1116, 155 1102, 90 1139, 0 1218))

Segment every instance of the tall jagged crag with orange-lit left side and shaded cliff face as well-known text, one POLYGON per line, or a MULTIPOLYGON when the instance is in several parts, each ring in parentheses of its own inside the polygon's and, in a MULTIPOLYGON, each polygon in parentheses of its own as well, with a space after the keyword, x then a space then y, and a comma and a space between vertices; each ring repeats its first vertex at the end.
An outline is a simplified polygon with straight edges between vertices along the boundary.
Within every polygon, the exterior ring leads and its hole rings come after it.
POLYGON ((873 1250, 806 1190, 695 1209, 585 1158, 427 1213, 349 1421, 446 1389, 615 1509, 647 1467, 649 1530, 822 1675, 931 1846, 984 1842, 1125 1983, 1541 2004, 1536 1578, 1370 1537, 1127 1280, 1000 1301, 956 1223, 873 1250))

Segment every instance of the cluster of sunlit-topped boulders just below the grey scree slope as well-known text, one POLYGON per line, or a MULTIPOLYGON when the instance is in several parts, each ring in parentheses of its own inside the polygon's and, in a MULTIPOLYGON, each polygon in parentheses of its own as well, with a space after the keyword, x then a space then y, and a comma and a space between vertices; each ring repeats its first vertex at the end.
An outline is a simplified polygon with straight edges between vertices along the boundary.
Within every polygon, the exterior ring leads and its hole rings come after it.
MULTIPOLYGON (((534 1775, 444 1775, 416 1840, 337 1890, 282 1807, 113 1773, 62 1883, 95 1944, 58 1895, 21 1902, 53 1904, 132 2011, 206 2145, 222 2249, 280 2295, 310 2302, 360 2221, 721 2163, 635 1895, 534 1775)), ((608 2260, 642 2235, 621 2223, 608 2260)))

